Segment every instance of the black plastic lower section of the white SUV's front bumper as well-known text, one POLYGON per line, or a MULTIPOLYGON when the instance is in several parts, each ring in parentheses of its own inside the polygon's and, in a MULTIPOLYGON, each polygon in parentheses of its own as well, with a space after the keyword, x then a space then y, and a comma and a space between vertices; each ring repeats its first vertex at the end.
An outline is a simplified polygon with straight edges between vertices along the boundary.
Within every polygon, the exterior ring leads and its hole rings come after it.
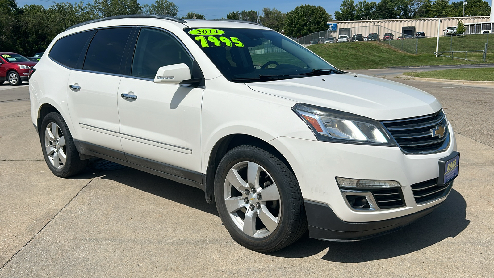
POLYGON ((310 237, 329 241, 364 240, 396 232, 404 226, 427 216, 441 204, 397 218, 355 223, 339 219, 326 204, 304 201, 310 237))

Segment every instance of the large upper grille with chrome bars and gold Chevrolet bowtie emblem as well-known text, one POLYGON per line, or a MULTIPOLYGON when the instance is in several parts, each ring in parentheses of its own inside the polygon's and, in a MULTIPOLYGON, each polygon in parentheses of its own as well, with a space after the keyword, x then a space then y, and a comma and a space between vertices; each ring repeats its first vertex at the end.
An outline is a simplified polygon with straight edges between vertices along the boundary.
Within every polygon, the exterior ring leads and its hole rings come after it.
POLYGON ((403 152, 425 154, 440 152, 450 144, 448 123, 443 110, 434 114, 381 122, 403 152), (432 129, 444 127, 444 136, 432 137, 432 129))

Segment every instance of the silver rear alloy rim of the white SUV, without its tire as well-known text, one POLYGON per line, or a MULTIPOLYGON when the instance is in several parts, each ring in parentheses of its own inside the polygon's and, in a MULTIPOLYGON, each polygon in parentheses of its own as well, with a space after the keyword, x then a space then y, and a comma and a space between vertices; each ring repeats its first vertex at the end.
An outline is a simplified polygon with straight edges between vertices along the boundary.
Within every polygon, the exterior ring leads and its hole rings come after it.
POLYGON ((56 169, 62 169, 67 160, 65 137, 60 127, 53 122, 46 126, 44 147, 51 165, 56 169))

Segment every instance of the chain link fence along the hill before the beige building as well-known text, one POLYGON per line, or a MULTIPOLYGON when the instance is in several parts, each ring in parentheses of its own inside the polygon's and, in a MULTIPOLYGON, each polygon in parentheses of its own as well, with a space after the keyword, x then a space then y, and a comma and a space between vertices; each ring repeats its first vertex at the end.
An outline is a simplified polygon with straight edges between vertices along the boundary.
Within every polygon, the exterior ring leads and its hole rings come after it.
MULTIPOLYGON (((374 41, 410 54, 436 54, 437 34, 415 36, 420 30, 415 30, 414 27, 413 29, 409 27, 404 27, 403 29, 399 32, 380 25, 361 26, 338 29, 337 31, 316 32, 295 40, 303 46, 324 43, 369 43, 374 41), (347 36, 348 40, 341 37, 344 35, 347 36), (341 37, 339 42, 338 37, 341 37)), ((443 30, 440 32, 438 55, 451 57, 452 59, 494 62, 494 34, 445 36, 443 30), (489 42, 489 39, 491 39, 491 42, 489 42)))

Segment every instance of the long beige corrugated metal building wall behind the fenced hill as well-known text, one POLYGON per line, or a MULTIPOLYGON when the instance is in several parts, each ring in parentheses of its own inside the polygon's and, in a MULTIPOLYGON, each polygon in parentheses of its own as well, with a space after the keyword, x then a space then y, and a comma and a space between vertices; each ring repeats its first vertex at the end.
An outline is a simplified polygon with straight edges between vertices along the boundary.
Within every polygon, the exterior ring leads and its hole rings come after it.
MULTIPOLYGON (((458 20, 463 20, 463 23, 480 23, 489 21, 489 16, 468 16, 468 17, 447 17, 441 18, 441 33, 443 35, 443 30, 448 26, 456 26, 458 20)), ((379 33, 384 32, 378 30, 377 25, 393 30, 394 32, 400 34, 402 32, 402 27, 415 26, 415 32, 425 32, 426 36, 437 36, 437 23, 438 18, 414 18, 414 19, 387 19, 387 20, 362 20, 362 21, 330 21, 328 23, 337 23, 338 29, 343 28, 354 28, 354 27, 365 27, 367 26, 367 32, 364 33, 379 33), (374 26, 375 27, 372 27, 374 26)), ((361 29, 362 30, 362 29, 361 29)), ((379 35, 382 35, 379 33, 379 35)), ((366 35, 367 35, 366 34, 366 35)), ((366 36, 364 35, 364 36, 366 36)))

